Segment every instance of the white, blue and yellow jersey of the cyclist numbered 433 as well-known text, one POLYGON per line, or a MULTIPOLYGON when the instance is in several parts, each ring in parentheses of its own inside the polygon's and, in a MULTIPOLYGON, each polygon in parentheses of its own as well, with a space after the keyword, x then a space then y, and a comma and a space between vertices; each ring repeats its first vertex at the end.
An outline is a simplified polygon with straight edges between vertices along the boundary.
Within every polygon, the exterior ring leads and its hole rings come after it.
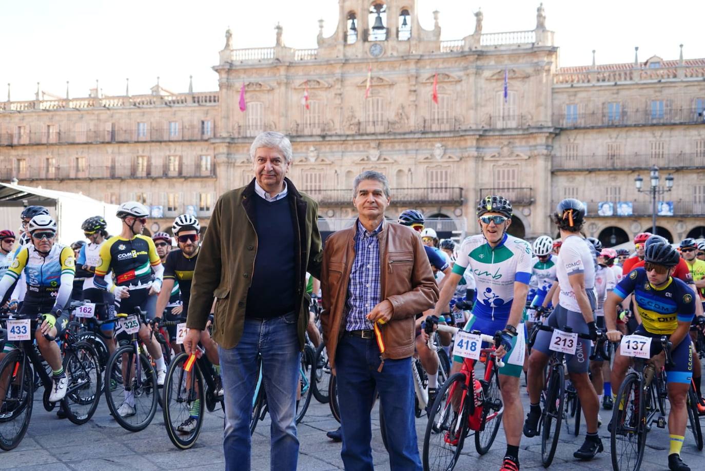
POLYGON ((71 247, 54 244, 44 256, 34 245, 27 244, 17 252, 0 280, 0 298, 24 274, 27 281, 25 302, 51 304, 51 310, 63 309, 71 298, 74 273, 75 259, 71 247))

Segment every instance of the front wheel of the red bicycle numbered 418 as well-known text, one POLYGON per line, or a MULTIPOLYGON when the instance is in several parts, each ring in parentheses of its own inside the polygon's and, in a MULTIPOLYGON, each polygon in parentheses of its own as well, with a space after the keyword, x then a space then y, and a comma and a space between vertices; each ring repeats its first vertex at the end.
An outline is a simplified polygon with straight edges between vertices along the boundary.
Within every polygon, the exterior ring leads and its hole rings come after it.
POLYGON ((467 436, 469 401, 465 386, 465 373, 453 374, 439 390, 431 406, 429 421, 424 434, 422 463, 424 471, 451 471, 458 464, 462 445, 467 436), (462 410, 453 410, 453 398, 460 403, 458 394, 466 394, 462 410))

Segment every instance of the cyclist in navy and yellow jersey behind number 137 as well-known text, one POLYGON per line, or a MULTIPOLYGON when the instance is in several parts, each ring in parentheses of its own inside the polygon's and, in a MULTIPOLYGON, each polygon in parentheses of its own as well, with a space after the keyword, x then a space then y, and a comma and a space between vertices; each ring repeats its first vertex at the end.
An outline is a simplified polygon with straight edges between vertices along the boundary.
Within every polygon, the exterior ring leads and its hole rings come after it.
MULTIPOLYGON (((693 353, 688 332, 695 312, 695 300, 692 290, 680 279, 674 278, 673 268, 678 264, 678 251, 668 243, 657 241, 646 248, 644 267, 630 271, 625 278, 608 295, 605 302, 605 322, 607 337, 617 342, 622 334, 615 329, 617 305, 627 295, 634 293, 637 299, 637 309, 641 314, 642 324, 635 334, 658 339, 662 335, 669 337, 673 344, 671 355, 674 365, 666 365, 668 382, 668 433, 670 434, 670 450, 668 452, 668 468, 677 471, 689 471, 690 468, 680 459, 680 449, 683 446, 687 415, 685 410, 686 395, 690 386, 693 353)), ((661 343, 651 342, 649 355, 661 355, 661 343)), ((630 365, 630 357, 615 353, 612 367, 613 398, 614 391, 624 380, 630 365)))

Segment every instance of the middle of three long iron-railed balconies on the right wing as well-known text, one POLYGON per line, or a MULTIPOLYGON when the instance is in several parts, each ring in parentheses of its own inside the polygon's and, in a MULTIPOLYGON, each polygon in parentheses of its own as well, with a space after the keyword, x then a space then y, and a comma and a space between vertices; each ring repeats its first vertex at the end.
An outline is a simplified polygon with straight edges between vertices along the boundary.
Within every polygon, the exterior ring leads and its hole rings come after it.
POLYGON ((553 171, 642 170, 656 165, 659 169, 704 169, 705 152, 678 154, 575 155, 551 157, 553 171))

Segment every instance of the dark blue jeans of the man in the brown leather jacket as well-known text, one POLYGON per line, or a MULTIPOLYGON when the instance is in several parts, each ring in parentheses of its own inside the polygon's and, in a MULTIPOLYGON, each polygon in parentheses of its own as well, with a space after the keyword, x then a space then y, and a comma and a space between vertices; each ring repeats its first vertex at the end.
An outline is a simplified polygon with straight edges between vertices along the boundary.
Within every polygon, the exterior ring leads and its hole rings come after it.
POLYGON ((345 335, 336 350, 338 404, 341 410, 343 450, 347 471, 373 471, 370 414, 379 391, 391 470, 421 470, 414 416, 411 357, 385 360, 381 372, 374 339, 345 335))

